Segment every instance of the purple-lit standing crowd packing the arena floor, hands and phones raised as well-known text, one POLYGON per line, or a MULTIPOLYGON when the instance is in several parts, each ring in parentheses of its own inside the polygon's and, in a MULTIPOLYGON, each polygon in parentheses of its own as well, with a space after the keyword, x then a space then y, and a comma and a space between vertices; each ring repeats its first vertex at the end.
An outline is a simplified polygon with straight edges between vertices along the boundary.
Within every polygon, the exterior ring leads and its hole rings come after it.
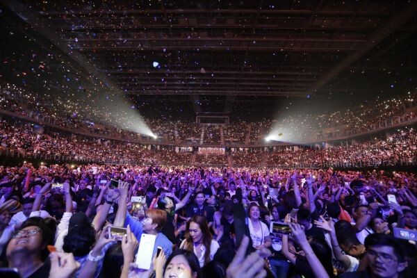
POLYGON ((24 278, 414 277, 416 196, 412 172, 0 166, 0 263, 24 278))

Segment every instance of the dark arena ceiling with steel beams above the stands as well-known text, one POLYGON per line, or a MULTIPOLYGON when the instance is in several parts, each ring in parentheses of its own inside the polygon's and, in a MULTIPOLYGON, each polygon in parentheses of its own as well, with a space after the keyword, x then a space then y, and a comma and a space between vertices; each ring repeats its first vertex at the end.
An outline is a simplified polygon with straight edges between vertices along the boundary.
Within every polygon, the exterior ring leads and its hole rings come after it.
POLYGON ((416 1, 1 2, 90 76, 83 88, 138 104, 243 115, 416 90, 416 1))

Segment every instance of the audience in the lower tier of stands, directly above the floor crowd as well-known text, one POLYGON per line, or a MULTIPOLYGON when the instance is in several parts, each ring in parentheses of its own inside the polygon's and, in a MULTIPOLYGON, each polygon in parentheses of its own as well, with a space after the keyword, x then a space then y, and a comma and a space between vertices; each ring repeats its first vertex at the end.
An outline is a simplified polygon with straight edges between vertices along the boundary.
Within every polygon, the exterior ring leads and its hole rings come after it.
MULTIPOLYGON (((193 152, 149 149, 145 145, 117 140, 100 140, 88 136, 47 131, 40 133, 33 124, 13 125, 0 122, 0 153, 22 157, 96 163, 130 163, 147 165, 190 165, 193 152)), ((326 148, 249 150, 229 154, 196 154, 198 165, 233 165, 250 167, 366 167, 378 165, 412 165, 417 157, 417 133, 403 129, 388 138, 337 145, 326 148)))

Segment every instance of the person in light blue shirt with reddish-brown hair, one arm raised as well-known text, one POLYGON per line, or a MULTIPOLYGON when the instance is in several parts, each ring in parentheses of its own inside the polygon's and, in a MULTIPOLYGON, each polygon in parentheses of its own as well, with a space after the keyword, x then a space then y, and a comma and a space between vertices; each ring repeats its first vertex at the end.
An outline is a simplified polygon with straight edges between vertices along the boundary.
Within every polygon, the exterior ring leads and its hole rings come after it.
POLYGON ((140 240, 142 233, 153 234, 156 236, 154 253, 152 257, 156 254, 158 246, 162 247, 165 256, 170 256, 172 253, 172 243, 171 241, 161 233, 161 229, 167 222, 167 213, 160 209, 148 209, 146 211, 146 218, 142 222, 133 218, 126 211, 127 195, 129 191, 129 183, 120 182, 119 186, 119 208, 117 208, 117 213, 113 226, 115 227, 127 227, 130 225, 132 233, 140 240))

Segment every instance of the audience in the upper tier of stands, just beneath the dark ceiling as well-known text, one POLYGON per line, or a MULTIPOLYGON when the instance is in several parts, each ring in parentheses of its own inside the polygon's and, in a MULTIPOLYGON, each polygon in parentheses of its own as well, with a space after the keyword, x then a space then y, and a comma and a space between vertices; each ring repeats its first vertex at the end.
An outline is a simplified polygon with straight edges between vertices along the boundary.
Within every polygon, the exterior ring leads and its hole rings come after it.
MULTIPOLYGON (((392 99, 375 99, 354 108, 345 108, 332 113, 320 115, 288 115, 280 120, 263 119, 254 122, 236 120, 230 124, 211 124, 206 126, 201 143, 256 145, 263 143, 273 126, 291 126, 286 136, 292 141, 309 142, 338 136, 362 133, 393 124, 399 124, 417 117, 416 93, 409 92, 402 97, 392 99), (414 110, 413 110, 414 108, 414 110), (333 128, 334 131, 326 131, 333 128), (248 138, 247 138, 248 136, 248 138), (224 143, 222 142, 222 143, 224 143)), ((126 140, 152 140, 147 136, 138 136, 132 131, 122 130, 115 124, 111 126, 111 113, 104 108, 94 108, 91 104, 81 105, 85 99, 62 99, 48 97, 35 92, 27 92, 15 85, 0 85, 0 108, 19 115, 32 117, 43 122, 52 123, 73 131, 83 131, 101 136, 112 136, 126 140)), ((134 106, 133 106, 134 107, 134 106)), ((121 118, 122 115, 121 115, 121 118)), ((203 128, 193 122, 175 121, 165 117, 145 119, 147 125, 158 135, 158 142, 190 142, 200 143, 203 128)))

